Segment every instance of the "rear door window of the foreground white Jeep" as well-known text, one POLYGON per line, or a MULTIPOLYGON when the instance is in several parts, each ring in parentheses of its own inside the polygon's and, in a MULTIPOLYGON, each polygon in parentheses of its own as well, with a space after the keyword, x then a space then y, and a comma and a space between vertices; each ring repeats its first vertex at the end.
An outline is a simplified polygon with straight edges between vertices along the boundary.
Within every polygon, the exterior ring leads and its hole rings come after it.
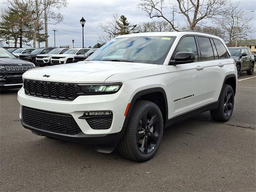
POLYGON ((212 44, 207 37, 197 37, 198 45, 201 53, 201 60, 214 60, 212 44))

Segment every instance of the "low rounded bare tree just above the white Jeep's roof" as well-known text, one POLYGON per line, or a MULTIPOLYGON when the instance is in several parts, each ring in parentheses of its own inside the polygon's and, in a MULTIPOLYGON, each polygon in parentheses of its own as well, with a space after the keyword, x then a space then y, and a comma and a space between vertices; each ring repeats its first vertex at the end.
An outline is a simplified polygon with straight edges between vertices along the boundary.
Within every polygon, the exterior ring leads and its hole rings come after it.
POLYGON ((170 24, 167 21, 151 21, 142 22, 136 26, 135 32, 145 33, 145 32, 166 32, 172 31, 170 24))

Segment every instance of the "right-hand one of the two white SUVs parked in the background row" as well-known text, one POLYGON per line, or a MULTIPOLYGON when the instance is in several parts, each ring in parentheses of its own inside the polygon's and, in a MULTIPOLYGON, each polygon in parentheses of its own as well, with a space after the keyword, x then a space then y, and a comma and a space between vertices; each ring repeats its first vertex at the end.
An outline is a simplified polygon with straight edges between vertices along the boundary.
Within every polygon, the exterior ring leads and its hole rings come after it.
POLYGON ((88 51, 86 48, 72 48, 62 55, 53 55, 51 58, 52 65, 72 63, 75 55, 81 55, 88 51))

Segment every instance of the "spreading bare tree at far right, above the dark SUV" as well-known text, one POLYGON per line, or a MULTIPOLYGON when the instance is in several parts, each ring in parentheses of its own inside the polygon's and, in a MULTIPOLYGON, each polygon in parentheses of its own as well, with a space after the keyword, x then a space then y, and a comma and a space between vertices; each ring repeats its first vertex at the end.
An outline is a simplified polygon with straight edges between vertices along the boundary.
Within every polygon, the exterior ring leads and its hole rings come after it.
POLYGON ((247 39, 251 37, 251 33, 255 31, 255 28, 250 21, 252 18, 246 17, 246 13, 239 6, 239 3, 233 4, 230 2, 226 6, 226 12, 224 12, 220 18, 216 19, 216 24, 222 29, 220 35, 230 46, 234 45, 237 39, 247 39))

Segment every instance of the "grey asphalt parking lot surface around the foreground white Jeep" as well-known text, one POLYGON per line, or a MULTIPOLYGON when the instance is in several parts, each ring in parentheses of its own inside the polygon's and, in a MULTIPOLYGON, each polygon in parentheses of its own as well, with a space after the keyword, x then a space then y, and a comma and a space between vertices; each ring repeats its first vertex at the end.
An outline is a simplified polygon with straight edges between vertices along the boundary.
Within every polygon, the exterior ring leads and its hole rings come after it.
POLYGON ((144 163, 32 134, 20 124, 17 91, 0 94, 1 192, 256 191, 256 74, 240 76, 229 122, 205 112, 175 124, 144 163))

